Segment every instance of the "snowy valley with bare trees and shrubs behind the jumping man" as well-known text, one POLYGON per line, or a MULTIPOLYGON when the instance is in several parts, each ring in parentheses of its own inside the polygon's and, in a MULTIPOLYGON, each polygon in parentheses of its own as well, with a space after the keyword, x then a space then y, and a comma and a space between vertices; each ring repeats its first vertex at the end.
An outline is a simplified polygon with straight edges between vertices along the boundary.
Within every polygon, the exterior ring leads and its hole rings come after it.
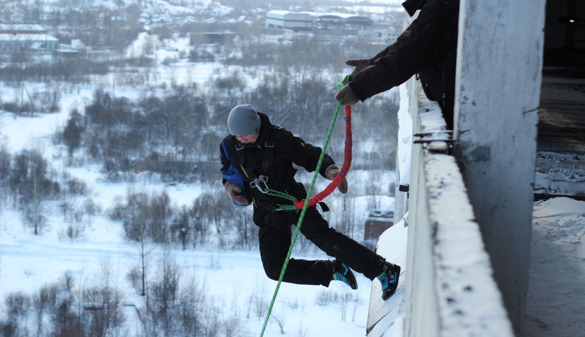
MULTIPOLYGON (((261 268, 252 209, 233 206, 221 185, 226 116, 252 104, 322 146, 344 61, 384 45, 268 29, 268 5, 252 5, 1 5, 0 22, 38 23, 87 46, 0 55, 3 336, 257 334, 276 283, 261 268), (235 35, 221 43, 201 35, 226 31, 235 35)), ((397 104, 391 91, 355 109, 350 190, 324 214, 367 245, 367 211, 392 207, 397 104)), ((338 163, 341 125, 327 150, 338 163)), ((328 258, 304 238, 294 255, 328 258)), ((370 281, 358 281, 354 293, 281 287, 269 335, 324 335, 329 317, 335 331, 362 334, 370 281)))

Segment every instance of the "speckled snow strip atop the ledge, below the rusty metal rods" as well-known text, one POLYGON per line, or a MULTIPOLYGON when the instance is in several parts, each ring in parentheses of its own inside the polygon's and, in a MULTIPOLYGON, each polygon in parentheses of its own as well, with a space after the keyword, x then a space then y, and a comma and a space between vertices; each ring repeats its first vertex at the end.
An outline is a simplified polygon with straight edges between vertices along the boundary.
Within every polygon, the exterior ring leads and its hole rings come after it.
POLYGON ((455 159, 425 156, 442 336, 514 336, 455 159))

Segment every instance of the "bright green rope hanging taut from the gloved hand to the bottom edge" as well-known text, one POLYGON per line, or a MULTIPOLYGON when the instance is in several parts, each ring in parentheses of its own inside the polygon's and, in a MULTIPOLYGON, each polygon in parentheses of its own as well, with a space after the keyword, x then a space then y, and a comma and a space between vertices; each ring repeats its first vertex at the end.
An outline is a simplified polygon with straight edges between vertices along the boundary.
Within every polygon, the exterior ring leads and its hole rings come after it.
MULTIPOLYGON (((343 88, 345 84, 349 82, 349 75, 346 75, 343 78, 343 81, 337 84, 338 90, 343 88)), ((329 138, 331 138, 331 133, 333 132, 333 126, 335 126, 335 121, 337 120, 337 115, 339 113, 339 108, 341 106, 342 99, 339 99, 337 102, 337 107, 335 108, 335 114, 333 114, 333 119, 331 121, 331 125, 329 125, 329 130, 327 132, 327 136, 325 137, 325 144, 323 145, 323 149, 321 151, 321 156, 319 156, 319 161, 317 163, 317 167, 315 168, 315 174, 313 175, 313 180, 311 181, 311 185, 309 186, 309 190, 307 191, 307 198, 305 200, 309 200, 311 198, 311 193, 313 192, 313 187, 315 186, 315 181, 317 180, 317 176, 319 175, 319 171, 321 170, 321 164, 323 163, 323 158, 325 156, 325 150, 327 149, 327 145, 329 144, 329 138)), ((294 247, 295 241, 297 241, 298 232, 301 229, 302 225, 302 218, 305 216, 305 212, 307 212, 307 206, 309 205, 308 202, 305 202, 304 206, 302 207, 301 216, 298 218, 297 229, 294 231, 294 235, 292 236, 292 242, 290 247, 288 247, 288 253, 286 259, 284 259, 283 269, 280 271, 280 277, 278 277, 278 283, 276 284, 276 289, 274 290, 274 295, 272 296, 272 301, 270 301, 270 307, 268 308, 268 312, 266 313, 266 319, 264 319, 264 325, 262 326, 262 331, 260 332, 260 337, 264 336, 264 330, 266 330, 266 325, 268 324, 268 320, 270 318, 270 313, 272 312, 272 307, 274 306, 274 301, 276 301, 276 295, 278 294, 278 289, 280 288, 280 284, 283 281, 284 272, 287 270, 288 260, 292 254, 292 247, 294 247)), ((283 205, 284 206, 284 205, 283 205)), ((294 207, 294 206, 293 206, 294 207)), ((282 208, 282 206, 281 206, 282 208)))

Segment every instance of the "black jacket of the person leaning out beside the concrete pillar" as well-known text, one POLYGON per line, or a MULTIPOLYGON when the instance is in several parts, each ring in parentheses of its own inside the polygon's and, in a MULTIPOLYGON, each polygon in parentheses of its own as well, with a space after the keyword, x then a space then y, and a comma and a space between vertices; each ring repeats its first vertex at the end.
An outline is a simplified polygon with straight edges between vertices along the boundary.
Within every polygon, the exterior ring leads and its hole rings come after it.
POLYGON ((421 12, 349 85, 363 101, 418 73, 426 96, 438 101, 443 113, 447 106, 452 114, 459 0, 408 0, 402 5, 411 16, 417 9, 421 12))

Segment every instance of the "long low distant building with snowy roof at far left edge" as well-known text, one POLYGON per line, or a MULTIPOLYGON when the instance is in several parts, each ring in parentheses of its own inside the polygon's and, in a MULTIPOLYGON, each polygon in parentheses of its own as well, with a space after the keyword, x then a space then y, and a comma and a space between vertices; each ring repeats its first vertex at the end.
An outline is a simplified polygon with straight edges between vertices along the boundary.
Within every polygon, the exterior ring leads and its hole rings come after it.
POLYGON ((40 25, 0 24, 0 52, 19 53, 42 51, 52 53, 59 48, 59 39, 47 35, 40 25))

